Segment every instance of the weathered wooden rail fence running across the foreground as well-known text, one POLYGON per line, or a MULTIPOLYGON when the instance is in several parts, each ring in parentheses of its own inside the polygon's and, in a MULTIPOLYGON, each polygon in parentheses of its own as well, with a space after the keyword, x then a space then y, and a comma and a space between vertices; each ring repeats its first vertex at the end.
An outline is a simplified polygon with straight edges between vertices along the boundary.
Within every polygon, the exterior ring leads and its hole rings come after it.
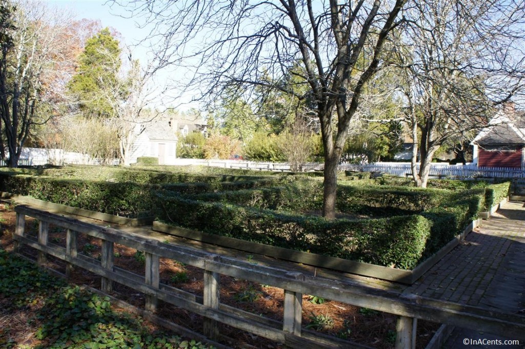
POLYGON ((204 334, 211 339, 217 338, 218 324, 223 323, 293 348, 365 347, 308 331, 301 326, 302 294, 314 294, 325 299, 397 315, 396 348, 415 347, 417 319, 494 333, 510 339, 525 340, 525 316, 253 265, 198 249, 164 244, 158 240, 146 239, 125 231, 84 223, 25 205, 15 207, 15 211, 15 250, 19 250, 20 244, 37 249, 39 263, 45 263, 47 255, 64 260, 68 263, 67 274, 74 266, 96 273, 102 277, 101 289, 104 292, 112 289, 113 282, 142 292, 146 295, 145 309, 150 312, 154 312, 158 300, 162 300, 202 315, 206 319, 203 326, 204 334), (39 220, 37 239, 28 236, 25 232, 26 216, 39 220), (67 229, 65 248, 48 241, 50 224, 67 229), (101 239, 100 261, 77 253, 79 233, 101 239), (144 251, 145 271, 143 275, 113 265, 114 244, 144 251), (203 269, 203 297, 161 283, 159 279, 160 258, 173 259, 203 269), (282 322, 220 303, 219 281, 222 275, 283 289, 285 299, 282 322))

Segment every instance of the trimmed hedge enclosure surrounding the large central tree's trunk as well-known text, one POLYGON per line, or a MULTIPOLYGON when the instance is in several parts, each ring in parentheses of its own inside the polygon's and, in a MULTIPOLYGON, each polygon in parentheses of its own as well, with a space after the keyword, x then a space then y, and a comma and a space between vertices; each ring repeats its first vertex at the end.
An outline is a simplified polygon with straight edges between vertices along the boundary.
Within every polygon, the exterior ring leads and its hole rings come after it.
MULTIPOLYGON (((372 208, 364 207, 361 202, 374 202, 394 207, 418 207, 421 213, 330 221, 275 211, 311 209, 322 202, 322 191, 315 194, 317 189, 318 183, 294 183, 286 187, 207 193, 192 196, 192 199, 160 192, 157 205, 161 209, 156 211, 156 218, 167 224, 209 234, 412 269, 463 231, 485 205, 485 189, 452 192, 443 189, 345 187, 339 192, 339 197, 353 212, 368 210, 370 213, 372 208)), ((343 204, 338 201, 339 207, 343 204)))

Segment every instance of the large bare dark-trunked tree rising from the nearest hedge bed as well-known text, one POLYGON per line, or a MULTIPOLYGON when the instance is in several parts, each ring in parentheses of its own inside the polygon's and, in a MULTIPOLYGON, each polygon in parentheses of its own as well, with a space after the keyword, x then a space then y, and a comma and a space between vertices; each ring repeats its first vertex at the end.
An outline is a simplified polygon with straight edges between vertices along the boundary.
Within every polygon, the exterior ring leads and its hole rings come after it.
POLYGON ((349 125, 364 84, 382 68, 383 45, 400 24, 396 18, 406 2, 136 0, 122 5, 154 28, 147 39, 154 42, 157 67, 193 72, 183 90, 198 92, 201 101, 225 87, 238 87, 247 98, 256 96, 257 87, 295 94, 281 77, 300 62, 300 80, 309 88, 296 97, 309 98, 320 121, 323 216, 334 218, 337 167, 349 125))

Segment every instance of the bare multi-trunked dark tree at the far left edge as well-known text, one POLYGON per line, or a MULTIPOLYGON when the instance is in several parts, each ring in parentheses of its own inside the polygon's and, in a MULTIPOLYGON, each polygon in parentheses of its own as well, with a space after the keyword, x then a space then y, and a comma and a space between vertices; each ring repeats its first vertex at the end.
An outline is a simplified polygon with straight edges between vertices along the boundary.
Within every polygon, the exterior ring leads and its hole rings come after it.
MULTIPOLYGON (((4 0, 2 6, 9 8, 13 26, 2 27, 9 41, 0 51, 0 117, 8 166, 16 167, 30 132, 54 115, 61 97, 70 66, 70 18, 38 2, 4 0)), ((4 142, 0 143, 5 158, 4 142)))

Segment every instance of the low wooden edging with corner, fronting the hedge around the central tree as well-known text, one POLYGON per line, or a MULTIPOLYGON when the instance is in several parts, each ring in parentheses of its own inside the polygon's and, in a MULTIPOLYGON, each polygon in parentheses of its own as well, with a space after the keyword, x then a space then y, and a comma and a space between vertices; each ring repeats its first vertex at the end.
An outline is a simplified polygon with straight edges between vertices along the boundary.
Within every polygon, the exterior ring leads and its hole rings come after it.
POLYGON ((356 262, 338 257, 327 257, 318 255, 317 253, 296 251, 288 248, 259 244, 257 242, 245 241, 214 234, 207 234, 205 232, 197 230, 171 226, 156 220, 153 222, 153 230, 165 232, 166 234, 174 236, 206 242, 208 244, 214 244, 228 248, 243 250, 250 253, 258 253, 260 255, 279 258, 292 262, 303 263, 314 267, 334 269, 347 273, 359 274, 362 276, 387 281, 412 284, 417 279, 419 279, 419 277, 421 277, 428 269, 430 269, 430 267, 432 267, 433 265, 435 265, 435 263, 442 259, 443 256, 450 252, 451 249, 456 247, 459 244, 459 241, 463 240, 465 236, 472 229, 479 226, 480 223, 481 219, 472 221, 472 223, 470 223, 461 234, 456 236, 442 249, 440 249, 439 251, 434 253, 434 255, 427 258, 423 263, 419 264, 413 270, 403 270, 383 266, 376 266, 370 263, 356 262))

